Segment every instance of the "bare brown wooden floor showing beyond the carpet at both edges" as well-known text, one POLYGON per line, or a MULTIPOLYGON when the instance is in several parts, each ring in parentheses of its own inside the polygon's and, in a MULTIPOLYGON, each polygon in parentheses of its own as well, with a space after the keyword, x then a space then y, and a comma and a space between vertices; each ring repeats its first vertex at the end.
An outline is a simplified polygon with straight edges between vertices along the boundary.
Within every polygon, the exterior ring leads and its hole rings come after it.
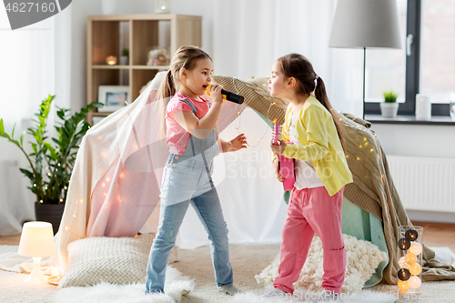
MULTIPOLYGON (((455 224, 412 222, 423 227, 423 242, 428 247, 450 247, 455 252, 455 224)), ((0 237, 0 245, 19 245, 21 235, 0 237)))

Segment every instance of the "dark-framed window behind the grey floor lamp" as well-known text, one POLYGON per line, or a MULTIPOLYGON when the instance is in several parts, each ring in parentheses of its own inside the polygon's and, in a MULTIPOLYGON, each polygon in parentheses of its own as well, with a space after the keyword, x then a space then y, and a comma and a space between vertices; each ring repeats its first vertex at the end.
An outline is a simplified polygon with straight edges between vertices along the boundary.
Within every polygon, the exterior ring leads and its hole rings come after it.
POLYGON ((384 90, 398 92, 399 115, 430 96, 432 116, 449 116, 455 94, 455 0, 398 0, 402 49, 367 49, 366 114, 380 114, 384 90), (409 44, 410 43, 410 44, 409 44))

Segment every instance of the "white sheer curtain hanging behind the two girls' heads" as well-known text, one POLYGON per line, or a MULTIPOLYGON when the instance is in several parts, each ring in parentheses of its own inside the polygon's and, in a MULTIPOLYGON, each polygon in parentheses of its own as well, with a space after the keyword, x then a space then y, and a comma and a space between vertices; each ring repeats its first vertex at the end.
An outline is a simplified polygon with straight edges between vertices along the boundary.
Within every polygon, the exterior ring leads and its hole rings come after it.
POLYGON ((279 56, 302 54, 324 80, 332 106, 361 115, 363 53, 328 47, 336 0, 213 2, 206 24, 213 27, 212 35, 203 46, 211 52, 217 74, 269 76, 279 56))

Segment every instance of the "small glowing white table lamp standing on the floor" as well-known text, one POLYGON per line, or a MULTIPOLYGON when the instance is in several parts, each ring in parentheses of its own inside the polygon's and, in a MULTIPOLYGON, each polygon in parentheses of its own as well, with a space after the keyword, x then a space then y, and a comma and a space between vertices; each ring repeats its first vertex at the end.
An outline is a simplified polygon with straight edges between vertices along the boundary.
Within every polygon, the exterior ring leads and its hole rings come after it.
POLYGON ((24 223, 17 253, 21 256, 33 258, 33 270, 25 282, 47 283, 47 278, 41 271, 40 263, 41 258, 56 254, 52 224, 40 221, 24 223))

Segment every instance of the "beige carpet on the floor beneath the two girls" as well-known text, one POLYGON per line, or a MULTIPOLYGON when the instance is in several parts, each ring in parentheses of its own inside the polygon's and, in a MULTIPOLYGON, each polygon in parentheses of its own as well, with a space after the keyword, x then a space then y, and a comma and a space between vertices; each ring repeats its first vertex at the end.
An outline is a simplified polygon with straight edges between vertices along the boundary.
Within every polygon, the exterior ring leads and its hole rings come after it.
MULTIPOLYGON (((2 246, 2 252, 15 251, 17 247, 10 250, 2 246)), ((7 248, 7 247, 6 247, 7 248)), ((234 283, 243 291, 250 291, 260 294, 264 291, 254 278, 263 268, 266 268, 273 258, 278 254, 278 245, 231 245, 230 259, 234 268, 234 283)), ((187 296, 183 297, 182 303, 213 303, 213 302, 244 302, 227 295, 218 293, 214 282, 213 267, 210 260, 209 247, 198 247, 192 250, 181 250, 181 261, 172 266, 177 268, 183 275, 194 278, 196 288, 187 296)), ((5 272, 0 270, 0 302, 23 302, 35 303, 56 302, 58 289, 51 285, 34 286, 26 285, 23 282, 24 274, 5 272)), ((369 288, 369 291, 378 291, 384 294, 395 294, 396 286, 379 285, 369 288)), ((453 302, 455 289, 454 281, 442 281, 423 283, 419 293, 410 298, 398 298, 397 302, 453 302)), ((254 296, 251 296, 253 298, 254 296)), ((60 300, 58 300, 59 303, 60 300)), ((369 302, 368 299, 357 298, 349 302, 369 302)), ((86 303, 89 301, 80 301, 86 303)), ((256 302, 251 299, 245 302, 256 302)))

